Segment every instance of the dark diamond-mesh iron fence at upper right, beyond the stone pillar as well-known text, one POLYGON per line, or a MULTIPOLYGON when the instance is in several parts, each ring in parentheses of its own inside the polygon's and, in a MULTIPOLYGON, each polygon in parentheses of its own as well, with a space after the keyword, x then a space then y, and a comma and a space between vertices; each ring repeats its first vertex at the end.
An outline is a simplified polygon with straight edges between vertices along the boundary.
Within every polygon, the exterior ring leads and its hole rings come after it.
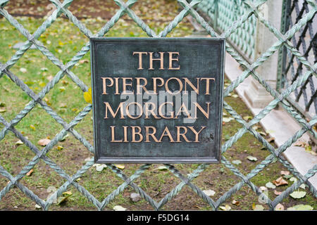
MULTIPOLYGON (((282 15, 281 32, 284 34, 295 23, 297 23, 305 13, 308 13, 311 6, 306 1, 285 1, 282 15)), ((290 39, 293 46, 311 64, 317 63, 317 16, 313 15, 306 25, 290 39)), ((292 52, 283 47, 281 49, 280 72, 278 73, 278 91, 287 89, 300 75, 307 70, 292 52)), ((311 119, 317 113, 317 78, 313 75, 309 77, 301 86, 294 90, 287 100, 304 116, 311 119)))

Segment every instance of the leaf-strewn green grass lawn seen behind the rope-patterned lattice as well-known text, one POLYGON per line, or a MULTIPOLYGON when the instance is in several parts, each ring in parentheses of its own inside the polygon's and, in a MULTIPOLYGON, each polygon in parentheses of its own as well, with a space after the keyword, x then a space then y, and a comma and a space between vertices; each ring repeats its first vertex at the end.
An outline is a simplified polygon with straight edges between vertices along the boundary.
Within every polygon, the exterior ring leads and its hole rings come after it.
MULTIPOLYGON (((177 7, 173 9, 176 13, 177 7)), ((44 20, 20 17, 17 20, 23 24, 23 26, 35 32, 44 20)), ((101 18, 88 18, 82 20, 92 32, 96 33, 105 23, 106 20, 101 18)), ((166 22, 149 22, 149 26, 153 27, 156 32, 163 30, 168 23, 166 22)), ((171 32, 168 37, 185 37, 192 34, 192 26, 187 23, 186 20, 171 32)), ((147 37, 141 28, 139 28, 133 21, 120 19, 118 23, 111 28, 106 34, 106 37, 147 37)), ((25 37, 20 34, 12 25, 10 25, 4 18, 0 18, 0 62, 6 63, 14 55, 16 49, 13 49, 14 44, 18 42, 26 41, 25 37)), ((44 34, 39 38, 44 46, 46 46, 51 53, 61 60, 65 65, 68 61, 80 51, 82 46, 89 41, 80 30, 70 23, 69 20, 60 18, 49 27, 44 34)), ((28 50, 20 60, 10 69, 10 71, 27 84, 36 94, 41 91, 44 86, 52 79, 59 71, 59 68, 51 63, 37 49, 28 50)), ((91 86, 90 75, 90 58, 87 53, 71 70, 77 77, 79 77, 87 87, 91 86)), ((225 80, 225 85, 230 84, 229 80, 225 80)), ((13 120, 13 118, 20 113, 25 105, 32 100, 30 96, 27 96, 24 91, 14 84, 7 75, 0 78, 0 115, 4 117, 7 122, 13 120)), ((65 120, 70 122, 73 118, 88 105, 85 102, 83 91, 72 79, 67 75, 61 79, 53 89, 49 91, 44 97, 44 101, 56 111, 56 113, 65 120)), ((237 98, 235 93, 225 98, 225 101, 234 108, 237 113, 242 117, 251 117, 251 112, 247 109, 247 106, 237 98)), ((224 112, 224 117, 230 115, 224 112)), ((227 141, 230 136, 234 135, 242 125, 231 120, 223 124, 223 143, 227 141)), ((0 130, 4 129, 4 125, 0 123, 0 130)), ((37 142, 40 139, 53 139, 63 127, 58 124, 46 111, 39 105, 28 113, 16 126, 15 129, 20 131, 23 136, 27 136, 27 139, 42 149, 37 142)), ((92 112, 90 112, 85 119, 83 119, 75 130, 79 132, 89 143, 93 143, 92 135, 92 112)), ((262 131, 260 127, 257 131, 262 131)), ((268 134, 263 134, 268 139, 268 134)), ((0 141, 0 165, 4 167, 10 174, 16 176, 20 170, 27 165, 30 160, 35 156, 34 153, 27 148, 27 146, 18 145, 16 142, 18 138, 9 131, 8 134, 0 141)), ((272 143, 273 144, 273 143, 272 143)), ((225 158, 229 161, 240 160, 239 165, 235 165, 237 169, 240 169, 242 174, 247 175, 251 169, 254 169, 262 160, 264 160, 270 153, 268 150, 263 149, 262 144, 254 138, 251 134, 244 134, 242 138, 237 141, 231 148, 225 152, 225 158), (257 161, 250 161, 247 157, 251 155, 256 157, 257 161)), ((60 141, 54 148, 52 148, 47 154, 51 160, 56 162, 58 166, 64 169, 64 171, 72 176, 85 165, 85 159, 92 158, 93 154, 85 148, 72 134, 69 134, 64 141, 60 141)), ((127 164, 122 171, 127 175, 132 175, 141 165, 127 164)), ((151 165, 144 174, 135 180, 140 188, 146 191, 156 201, 161 200, 167 193, 173 190, 175 186, 180 183, 180 179, 174 176, 168 170, 157 169, 160 165, 151 165)), ((182 174, 186 175, 197 169, 199 165, 175 165, 182 174)), ((280 176, 280 172, 286 170, 280 162, 273 162, 263 169, 258 175, 254 176, 251 181, 256 186, 266 186, 269 181, 274 181, 280 176)), ((274 191, 283 191, 287 187, 292 185, 290 176, 285 178, 288 184, 284 186, 278 186, 275 189, 268 188, 268 197, 273 200, 276 195, 274 191)), ((192 181, 201 188, 201 190, 213 190, 215 195, 212 196, 213 200, 217 200, 226 191, 229 191, 232 186, 240 182, 241 180, 233 174, 230 169, 226 168, 222 164, 209 165, 209 167, 192 181)), ((20 180, 20 183, 30 188, 39 198, 46 199, 49 193, 47 188, 54 186, 58 188, 66 182, 66 179, 59 176, 54 169, 51 169, 42 160, 35 166, 32 175, 25 176, 20 180)), ((2 190, 8 183, 8 179, 0 175, 0 190, 2 190)), ((101 172, 96 170, 96 167, 91 167, 80 179, 77 179, 77 183, 92 193, 99 201, 104 200, 107 195, 114 191, 120 184, 123 184, 123 180, 120 179, 111 169, 104 168, 101 172)), ((85 198, 76 188, 70 186, 68 191, 71 192, 71 196, 61 204, 53 204, 49 208, 50 210, 96 210, 96 207, 85 198)), ((302 190, 304 191, 304 189, 302 190)), ((291 197, 285 198, 282 201, 282 205, 292 207, 294 205, 306 204, 311 205, 314 210, 317 210, 317 201, 308 188, 306 188, 306 195, 304 198, 294 199, 291 197)), ((111 201, 105 210, 113 210, 115 205, 121 205, 128 210, 152 210, 152 207, 145 201, 140 200, 137 203, 133 203, 129 196, 130 193, 135 192, 133 188, 128 186, 123 193, 120 193, 116 198, 111 201)), ((251 191, 247 185, 244 185, 240 191, 237 191, 223 205, 229 205, 232 210, 252 210, 252 205, 262 205, 265 210, 268 210, 268 206, 258 202, 258 196, 251 191), (240 204, 232 204, 232 200, 239 201, 240 204)), ((163 210, 211 210, 212 208, 198 198, 198 196, 188 187, 185 186, 182 191, 173 200, 170 200, 164 205, 163 210)), ((24 193, 18 188, 12 188, 3 198, 0 200, 0 210, 36 210, 35 202, 30 200, 24 193)))

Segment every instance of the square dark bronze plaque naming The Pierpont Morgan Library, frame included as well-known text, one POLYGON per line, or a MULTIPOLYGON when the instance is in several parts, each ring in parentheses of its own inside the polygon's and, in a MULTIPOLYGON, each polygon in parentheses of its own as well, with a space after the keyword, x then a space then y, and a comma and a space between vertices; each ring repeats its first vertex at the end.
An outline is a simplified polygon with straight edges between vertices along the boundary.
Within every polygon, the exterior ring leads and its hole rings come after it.
POLYGON ((224 39, 90 44, 97 163, 220 161, 224 39))

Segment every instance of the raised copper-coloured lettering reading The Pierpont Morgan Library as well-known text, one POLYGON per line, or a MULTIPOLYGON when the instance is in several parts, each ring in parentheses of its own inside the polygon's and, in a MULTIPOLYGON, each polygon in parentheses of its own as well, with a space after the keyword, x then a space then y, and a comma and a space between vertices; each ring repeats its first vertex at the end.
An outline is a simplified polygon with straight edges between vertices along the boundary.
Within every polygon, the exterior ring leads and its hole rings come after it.
MULTIPOLYGON (((134 51, 133 56, 137 56, 139 67, 137 70, 155 70, 154 61, 159 63, 157 70, 180 70, 179 65, 179 52, 159 52, 159 58, 154 58, 154 52, 141 52, 134 51), (164 54, 168 55, 168 68, 164 68, 164 54), (143 61, 148 60, 149 68, 144 68, 143 61), (173 63, 178 62, 177 67, 173 67, 173 63)), ((102 95, 111 94, 114 95, 158 95, 160 92, 170 96, 177 96, 178 94, 188 94, 188 91, 194 91, 195 94, 210 95, 211 85, 214 85, 215 78, 211 77, 200 77, 196 78, 194 82, 189 80, 187 77, 170 77, 163 79, 162 77, 101 77, 102 82, 102 95), (177 84, 178 88, 173 90, 171 87, 173 84, 177 84), (136 86, 137 89, 132 87, 136 86), (149 89, 148 86, 152 88, 149 89), (199 90, 199 87, 203 90, 199 90), (107 92, 108 91, 108 92, 107 92)), ((202 113, 206 119, 209 119, 210 102, 203 104, 194 102, 194 113, 192 114, 189 110, 188 105, 181 101, 180 107, 176 108, 173 101, 164 101, 163 103, 156 105, 149 101, 145 103, 139 103, 137 101, 132 102, 120 102, 117 107, 113 107, 111 103, 104 102, 104 119, 111 120, 111 118, 119 118, 120 120, 131 119, 137 120, 144 118, 144 120, 179 120, 180 116, 186 117, 187 119, 197 119, 197 112, 202 113), (173 110, 166 113, 166 106, 169 105, 173 110), (135 113, 137 109, 137 113, 135 113)), ((199 142, 199 134, 206 127, 194 127, 194 126, 175 126, 175 136, 170 132, 170 129, 166 126, 163 131, 158 131, 154 126, 110 126, 111 142, 161 142, 164 137, 168 138, 168 141, 173 142, 199 142), (142 132, 142 129, 144 132, 142 132), (123 133, 123 139, 116 139, 116 132, 123 133), (131 135, 128 139, 128 132, 131 135), (191 132, 194 134, 194 139, 189 139, 186 134, 191 132), (145 134, 145 135, 143 135, 145 134)))

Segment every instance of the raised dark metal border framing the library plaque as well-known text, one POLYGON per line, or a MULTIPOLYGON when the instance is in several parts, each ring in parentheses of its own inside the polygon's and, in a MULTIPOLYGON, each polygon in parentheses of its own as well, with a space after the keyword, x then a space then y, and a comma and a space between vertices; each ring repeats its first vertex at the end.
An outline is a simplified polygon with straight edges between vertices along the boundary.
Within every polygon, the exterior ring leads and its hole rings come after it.
POLYGON ((95 163, 173 163, 173 164, 180 164, 180 163, 220 163, 221 160, 221 136, 222 136, 222 119, 223 119, 223 87, 224 87, 224 75, 225 75, 225 38, 214 38, 214 37, 92 37, 89 39, 90 42, 90 60, 91 60, 91 76, 92 76, 92 114, 93 114, 93 130, 94 130, 94 162, 95 163), (204 157, 204 158, 149 158, 149 157, 104 157, 100 156, 100 148, 97 141, 97 121, 96 118, 96 110, 94 107, 94 103, 96 100, 96 94, 94 93, 95 89, 94 86, 94 78, 95 78, 95 67, 96 67, 96 49, 97 44, 99 43, 111 43, 113 42, 120 42, 126 44, 132 44, 133 42, 144 41, 147 43, 157 43, 158 41, 166 41, 165 43, 182 43, 182 44, 220 44, 220 91, 219 91, 219 98, 216 99, 219 102, 219 118, 218 124, 216 127, 216 148, 218 153, 218 158, 211 158, 211 157, 204 157))

